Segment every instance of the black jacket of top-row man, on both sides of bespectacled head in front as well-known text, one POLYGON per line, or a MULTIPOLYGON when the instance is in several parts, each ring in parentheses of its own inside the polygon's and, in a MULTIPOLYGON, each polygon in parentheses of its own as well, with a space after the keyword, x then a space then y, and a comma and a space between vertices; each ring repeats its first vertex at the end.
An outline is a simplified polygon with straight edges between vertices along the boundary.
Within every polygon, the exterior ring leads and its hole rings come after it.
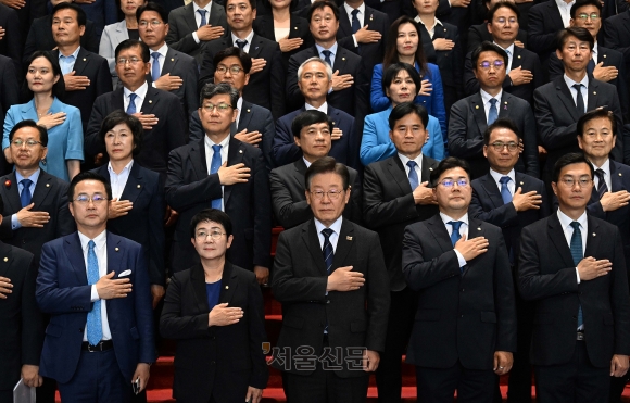
MULTIPOLYGON (((466 61, 464 63, 464 81, 466 83, 466 93, 469 96, 479 92, 479 89, 481 88, 479 80, 475 77, 474 67, 471 53, 468 53, 466 54, 466 61)), ((529 81, 529 84, 514 86, 509 75, 506 74, 505 79, 503 80, 503 90, 526 100, 531 105, 533 102, 533 90, 545 83, 542 67, 540 65, 540 59, 534 52, 515 46, 511 68, 517 67, 529 70, 531 74, 533 74, 533 79, 529 81)))

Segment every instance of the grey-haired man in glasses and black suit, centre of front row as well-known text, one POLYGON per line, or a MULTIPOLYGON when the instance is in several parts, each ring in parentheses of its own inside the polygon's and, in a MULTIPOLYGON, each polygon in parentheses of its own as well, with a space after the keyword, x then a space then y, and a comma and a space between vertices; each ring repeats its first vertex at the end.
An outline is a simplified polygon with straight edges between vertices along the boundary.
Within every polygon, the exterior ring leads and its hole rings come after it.
POLYGON ((282 328, 272 366, 282 370, 289 402, 365 402, 366 373, 385 348, 387 270, 376 232, 342 217, 349 181, 333 158, 311 164, 304 182, 314 218, 278 239, 272 287, 282 328), (300 364, 287 350, 307 357, 300 364))

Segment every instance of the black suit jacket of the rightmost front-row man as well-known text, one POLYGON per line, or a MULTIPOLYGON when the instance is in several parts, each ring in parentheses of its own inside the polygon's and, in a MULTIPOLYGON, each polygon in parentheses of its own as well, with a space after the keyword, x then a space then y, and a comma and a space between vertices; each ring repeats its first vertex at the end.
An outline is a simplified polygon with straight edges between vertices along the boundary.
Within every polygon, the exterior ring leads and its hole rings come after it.
POLYGON ((630 300, 619 229, 588 217, 584 256, 613 263, 606 276, 578 285, 576 265, 557 214, 522 229, 519 289, 536 301, 530 361, 533 365, 568 363, 576 350, 578 308, 582 306, 589 360, 610 366, 613 354, 630 353, 630 300))

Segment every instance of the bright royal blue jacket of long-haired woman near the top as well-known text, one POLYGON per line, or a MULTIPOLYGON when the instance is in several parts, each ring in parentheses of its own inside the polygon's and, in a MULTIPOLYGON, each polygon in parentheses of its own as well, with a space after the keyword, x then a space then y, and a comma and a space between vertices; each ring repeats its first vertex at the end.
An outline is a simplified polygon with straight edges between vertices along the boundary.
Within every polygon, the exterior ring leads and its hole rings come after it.
MULTIPOLYGON (((440 68, 437 65, 427 63, 427 68, 429 70, 429 74, 424 76, 423 79, 428 79, 429 83, 431 83, 433 90, 430 96, 417 96, 414 102, 425 106, 429 115, 433 115, 438 118, 440 127, 442 128, 442 137, 445 139, 446 109, 444 108, 442 76, 440 75, 440 68)), ((419 72, 419 66, 417 64, 416 70, 419 72)), ((418 91, 420 89, 418 88, 418 91)), ((369 104, 374 112, 380 112, 391 105, 390 99, 382 91, 382 63, 374 66, 369 104)))

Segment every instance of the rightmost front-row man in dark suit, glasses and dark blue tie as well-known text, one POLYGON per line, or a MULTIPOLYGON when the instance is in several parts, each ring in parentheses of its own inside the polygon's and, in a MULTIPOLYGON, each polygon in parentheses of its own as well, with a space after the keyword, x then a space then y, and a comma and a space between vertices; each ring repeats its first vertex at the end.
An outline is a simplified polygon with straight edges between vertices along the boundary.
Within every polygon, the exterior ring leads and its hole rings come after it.
POLYGON ((531 363, 539 402, 608 403, 610 375, 628 370, 630 299, 619 229, 587 214, 594 169, 557 160, 556 214, 522 229, 519 289, 536 301, 531 363))

